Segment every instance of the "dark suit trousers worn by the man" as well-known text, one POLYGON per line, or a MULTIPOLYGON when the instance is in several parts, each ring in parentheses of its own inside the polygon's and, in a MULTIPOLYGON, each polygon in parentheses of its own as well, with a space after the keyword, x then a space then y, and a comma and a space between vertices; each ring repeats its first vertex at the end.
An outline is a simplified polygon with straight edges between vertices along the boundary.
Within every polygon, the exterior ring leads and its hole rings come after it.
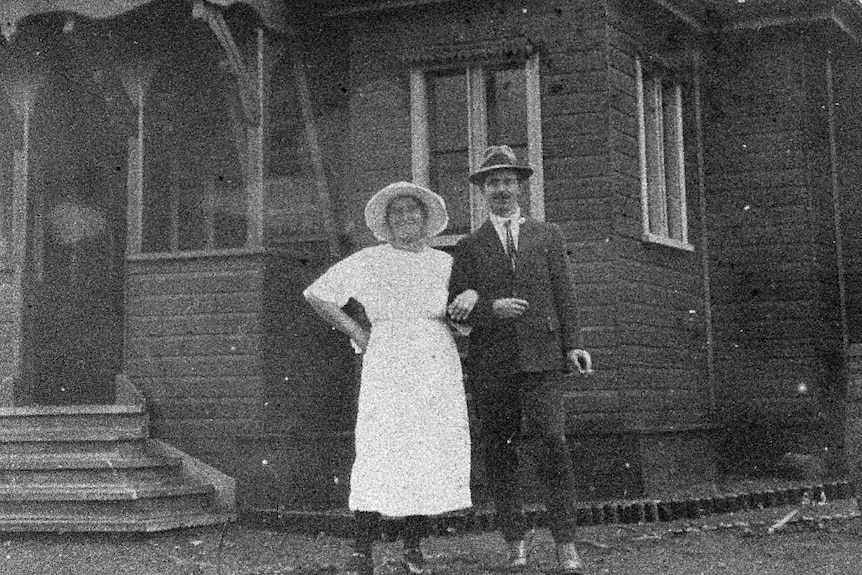
POLYGON ((544 488, 551 533, 557 543, 573 541, 574 475, 558 374, 521 372, 480 377, 471 390, 485 442, 485 477, 503 537, 506 541, 524 539, 529 530, 522 510, 517 452, 519 440, 529 435, 531 441, 526 444, 535 447, 536 471, 544 488))

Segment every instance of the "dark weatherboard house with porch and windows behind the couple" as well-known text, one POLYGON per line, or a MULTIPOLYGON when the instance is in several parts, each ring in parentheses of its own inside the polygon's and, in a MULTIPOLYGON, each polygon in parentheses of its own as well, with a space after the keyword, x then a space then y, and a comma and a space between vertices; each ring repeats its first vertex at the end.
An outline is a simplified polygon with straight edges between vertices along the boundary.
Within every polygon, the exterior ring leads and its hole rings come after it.
POLYGON ((858 3, 55 4, 4 20, 6 405, 111 403, 121 376, 241 510, 343 506, 357 360, 300 293, 373 241, 395 180, 446 198, 453 246, 486 215, 470 167, 508 143, 595 361, 563 382, 581 497, 786 453, 846 471, 858 3))

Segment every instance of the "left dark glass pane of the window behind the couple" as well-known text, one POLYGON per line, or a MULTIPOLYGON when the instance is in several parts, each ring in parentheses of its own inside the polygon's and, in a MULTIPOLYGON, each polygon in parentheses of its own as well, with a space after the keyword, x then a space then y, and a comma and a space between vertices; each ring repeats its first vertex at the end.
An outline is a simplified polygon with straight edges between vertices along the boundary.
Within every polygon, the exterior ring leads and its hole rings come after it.
POLYGON ((467 154, 467 76, 464 71, 428 78, 429 183, 449 211, 446 233, 470 232, 469 159, 467 154))

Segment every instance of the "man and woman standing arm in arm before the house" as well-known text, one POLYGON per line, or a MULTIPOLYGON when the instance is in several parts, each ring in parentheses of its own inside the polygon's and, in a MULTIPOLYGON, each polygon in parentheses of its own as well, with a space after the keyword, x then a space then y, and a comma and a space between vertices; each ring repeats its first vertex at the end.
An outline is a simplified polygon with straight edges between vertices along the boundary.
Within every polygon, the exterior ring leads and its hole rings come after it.
POLYGON ((589 373, 591 360, 577 343, 563 236, 553 224, 521 216, 519 196, 532 173, 508 146, 485 150, 470 181, 490 217, 458 243, 454 259, 428 246, 448 225, 443 199, 407 182, 386 186, 365 208, 368 227, 384 243, 338 262, 304 292, 364 354, 349 498, 353 573, 373 574, 381 515, 404 518, 402 563, 416 575, 425 570, 426 518, 472 505, 470 430, 450 322, 471 329, 464 370, 507 566, 523 568, 529 555, 513 441, 523 418, 535 438, 560 568, 583 572, 558 376, 589 373), (342 310, 350 298, 365 308, 370 331, 342 310))

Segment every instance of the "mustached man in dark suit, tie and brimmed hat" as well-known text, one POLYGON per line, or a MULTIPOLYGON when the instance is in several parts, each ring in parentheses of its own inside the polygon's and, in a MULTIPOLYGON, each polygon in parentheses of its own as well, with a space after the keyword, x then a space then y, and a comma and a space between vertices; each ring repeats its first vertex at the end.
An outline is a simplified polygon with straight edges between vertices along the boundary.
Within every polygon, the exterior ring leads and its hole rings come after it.
POLYGON ((561 569, 581 573, 574 544, 571 455, 565 438, 560 373, 591 373, 579 349, 578 323, 559 228, 521 216, 519 196, 533 170, 509 146, 485 150, 470 181, 491 214, 455 248, 450 280, 453 320, 472 327, 465 360, 480 429, 486 441, 485 476, 497 527, 509 544, 509 567, 527 565, 528 533, 518 497, 513 441, 522 417, 536 439, 551 532, 561 569))

